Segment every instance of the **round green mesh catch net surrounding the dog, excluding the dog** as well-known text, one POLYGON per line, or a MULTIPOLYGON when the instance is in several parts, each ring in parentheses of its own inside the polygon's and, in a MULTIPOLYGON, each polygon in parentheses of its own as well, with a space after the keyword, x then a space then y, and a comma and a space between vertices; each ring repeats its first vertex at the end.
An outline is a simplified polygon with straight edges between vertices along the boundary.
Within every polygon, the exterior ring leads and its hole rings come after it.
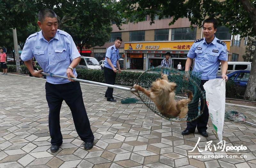
POLYGON ((161 78, 161 74, 166 74, 169 82, 175 82, 177 84, 175 91, 176 101, 188 99, 188 92, 193 93, 193 99, 188 104, 187 116, 185 118, 172 117, 170 115, 164 116, 159 112, 155 103, 153 103, 153 101, 147 95, 145 95, 144 92, 138 91, 137 96, 141 99, 141 101, 144 102, 144 104, 154 113, 169 121, 190 122, 198 118, 203 113, 205 105, 205 94, 200 89, 201 73, 193 71, 177 71, 173 68, 152 68, 140 75, 139 79, 137 80, 137 84, 148 89, 157 78, 161 78), (200 101, 204 103, 201 104, 200 101))

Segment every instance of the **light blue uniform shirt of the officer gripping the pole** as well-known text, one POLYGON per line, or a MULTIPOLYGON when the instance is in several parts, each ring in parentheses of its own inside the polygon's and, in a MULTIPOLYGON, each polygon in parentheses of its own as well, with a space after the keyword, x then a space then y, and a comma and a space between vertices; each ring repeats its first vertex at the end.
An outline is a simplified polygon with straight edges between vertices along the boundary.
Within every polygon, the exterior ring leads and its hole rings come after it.
MULTIPOLYGON (((28 61, 33 57, 36 58, 44 72, 67 77, 68 66, 74 59, 80 57, 80 54, 67 32, 58 29, 56 35, 48 42, 41 30, 27 38, 20 55, 23 61, 28 61)), ((77 76, 75 68, 73 73, 77 76)), ((52 76, 47 76, 46 81, 51 84, 70 82, 68 79, 52 76)))

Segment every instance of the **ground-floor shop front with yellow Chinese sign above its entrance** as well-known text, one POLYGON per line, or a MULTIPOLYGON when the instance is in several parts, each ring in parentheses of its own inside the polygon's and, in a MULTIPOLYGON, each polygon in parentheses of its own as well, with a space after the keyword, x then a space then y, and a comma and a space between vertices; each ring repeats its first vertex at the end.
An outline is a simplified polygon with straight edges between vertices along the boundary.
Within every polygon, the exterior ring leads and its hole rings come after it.
MULTIPOLYGON (((230 51, 230 40, 227 43, 230 51)), ((185 69, 187 54, 194 40, 189 41, 153 41, 153 42, 125 42, 124 57, 127 69, 148 70, 161 66, 161 61, 165 58, 165 53, 171 53, 171 68, 177 68, 179 62, 182 69, 185 69)))

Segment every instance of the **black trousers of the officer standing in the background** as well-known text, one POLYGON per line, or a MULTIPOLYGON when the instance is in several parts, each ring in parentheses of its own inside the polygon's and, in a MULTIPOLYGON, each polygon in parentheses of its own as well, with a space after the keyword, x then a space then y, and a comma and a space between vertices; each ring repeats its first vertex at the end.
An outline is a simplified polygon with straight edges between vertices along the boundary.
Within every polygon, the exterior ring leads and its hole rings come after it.
MULTIPOLYGON (((113 69, 104 67, 104 76, 105 76, 105 80, 106 80, 106 84, 115 84, 116 81, 116 73, 113 71, 113 69)), ((105 93, 105 97, 107 99, 111 99, 113 98, 113 88, 108 87, 106 93, 105 93)))

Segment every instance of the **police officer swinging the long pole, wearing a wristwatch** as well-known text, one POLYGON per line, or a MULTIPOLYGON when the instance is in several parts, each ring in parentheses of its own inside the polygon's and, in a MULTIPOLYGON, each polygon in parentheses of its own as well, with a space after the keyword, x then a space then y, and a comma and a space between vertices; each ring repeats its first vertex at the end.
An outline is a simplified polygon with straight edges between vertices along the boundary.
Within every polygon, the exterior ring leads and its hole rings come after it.
MULTIPOLYGON (((21 53, 28 70, 33 76, 42 77, 42 71, 56 75, 76 78, 75 67, 80 62, 80 54, 72 37, 58 29, 57 16, 50 9, 40 10, 38 26, 41 31, 32 34, 26 40, 21 53), (31 58, 35 57, 43 68, 34 71, 31 58)), ((93 147, 94 136, 87 117, 82 91, 79 82, 47 76, 45 83, 46 100, 49 106, 49 130, 51 136, 51 151, 56 152, 62 144, 60 132, 60 108, 65 100, 69 106, 76 131, 85 142, 85 149, 93 147)))

